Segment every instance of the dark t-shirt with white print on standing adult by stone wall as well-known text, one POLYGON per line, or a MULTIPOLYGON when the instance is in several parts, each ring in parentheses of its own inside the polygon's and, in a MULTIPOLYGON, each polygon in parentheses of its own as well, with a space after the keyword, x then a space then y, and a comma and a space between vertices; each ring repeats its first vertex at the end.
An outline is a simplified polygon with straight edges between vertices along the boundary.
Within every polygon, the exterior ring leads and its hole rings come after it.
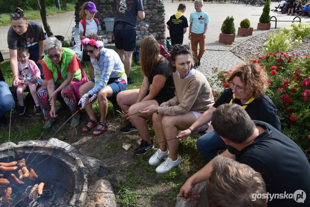
POLYGON ((127 24, 116 24, 114 29, 135 29, 138 11, 144 11, 142 0, 115 0, 115 8, 114 22, 121 21, 127 24))

